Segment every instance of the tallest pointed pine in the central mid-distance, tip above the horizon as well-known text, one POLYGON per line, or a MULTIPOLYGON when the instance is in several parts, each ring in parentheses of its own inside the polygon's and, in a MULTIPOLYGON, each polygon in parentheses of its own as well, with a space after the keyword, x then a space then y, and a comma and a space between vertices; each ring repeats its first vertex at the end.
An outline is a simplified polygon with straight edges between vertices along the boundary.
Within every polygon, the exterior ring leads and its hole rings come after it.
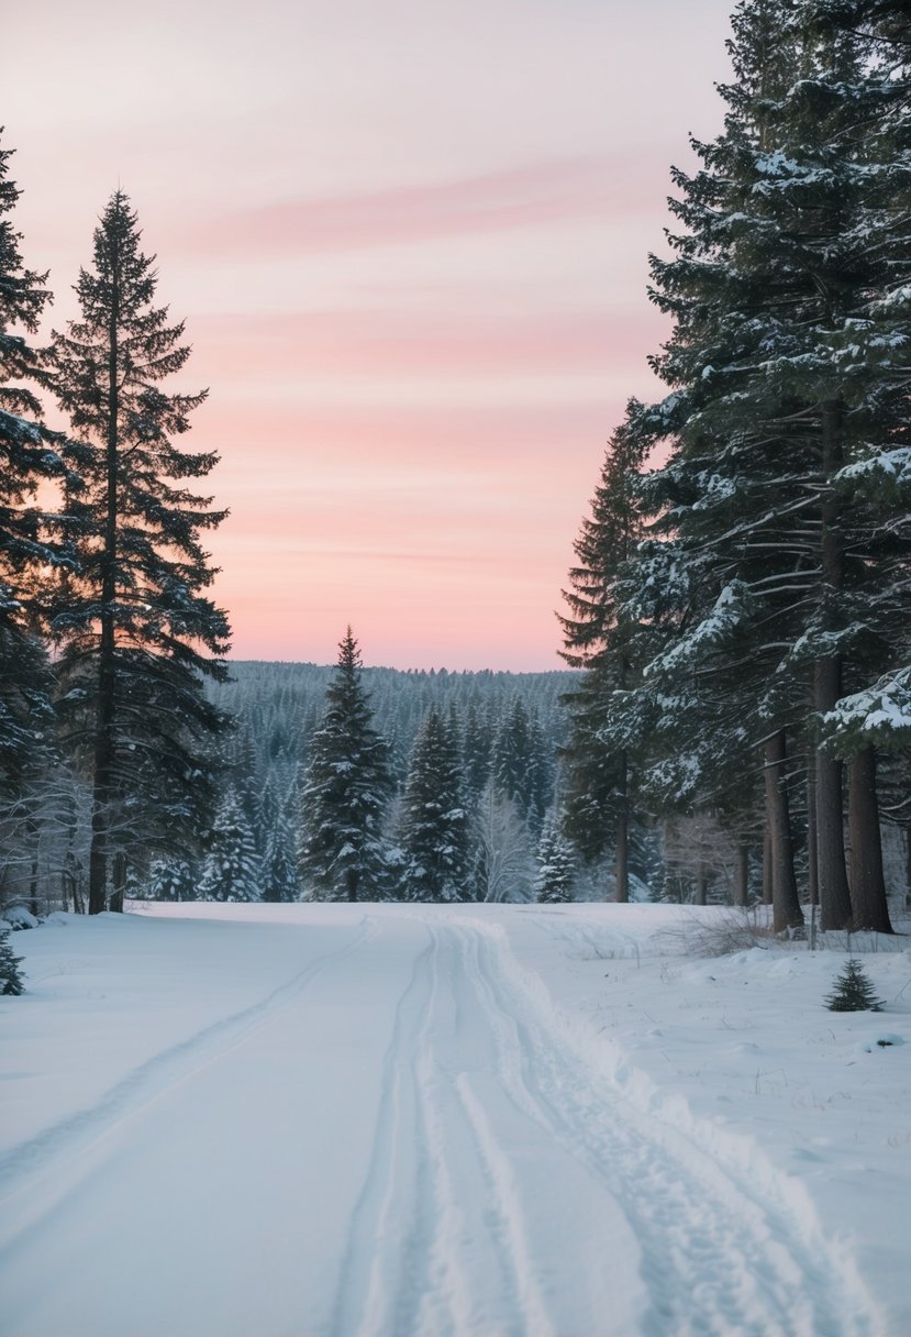
POLYGON ((387 746, 373 727, 361 651, 347 628, 310 743, 301 804, 301 881, 311 900, 358 901, 382 894, 383 812, 391 778, 387 746))

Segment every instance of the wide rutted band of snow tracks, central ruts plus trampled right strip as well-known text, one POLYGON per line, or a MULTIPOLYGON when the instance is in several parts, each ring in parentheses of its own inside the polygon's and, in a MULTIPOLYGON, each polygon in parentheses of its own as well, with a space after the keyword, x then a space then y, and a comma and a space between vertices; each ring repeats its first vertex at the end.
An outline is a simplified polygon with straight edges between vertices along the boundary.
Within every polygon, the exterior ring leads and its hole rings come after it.
POLYGON ((787 1195, 624 1100, 485 925, 427 932, 333 1337, 872 1337, 838 1253, 787 1195), (617 1265, 643 1281, 620 1309, 617 1265))

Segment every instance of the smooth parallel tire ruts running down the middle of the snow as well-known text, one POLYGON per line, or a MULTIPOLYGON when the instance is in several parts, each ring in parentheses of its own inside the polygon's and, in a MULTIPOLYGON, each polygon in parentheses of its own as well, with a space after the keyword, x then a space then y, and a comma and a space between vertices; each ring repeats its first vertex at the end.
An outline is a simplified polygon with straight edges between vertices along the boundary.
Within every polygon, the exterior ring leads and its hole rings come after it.
POLYGON ((493 1054, 484 1034, 478 1052, 462 939, 415 923, 430 941, 397 1007, 330 1332, 558 1337, 536 1285, 508 1155, 469 1080, 492 1071, 493 1054))

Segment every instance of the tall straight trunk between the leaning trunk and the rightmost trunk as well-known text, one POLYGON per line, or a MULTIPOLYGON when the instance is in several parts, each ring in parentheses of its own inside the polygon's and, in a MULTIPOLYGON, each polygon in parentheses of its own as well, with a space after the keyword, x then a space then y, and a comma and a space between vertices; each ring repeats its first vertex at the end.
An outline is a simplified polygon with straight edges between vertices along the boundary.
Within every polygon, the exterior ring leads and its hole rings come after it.
MULTIPOLYGON (((828 481, 842 463, 842 406, 836 400, 823 404, 823 475, 828 481)), ((842 590, 842 543, 838 533, 838 497, 823 493, 820 509, 823 575, 823 624, 831 623, 831 603, 842 590)), ((842 656, 817 659, 813 671, 813 707, 822 715, 832 710, 842 695, 842 656)), ((816 869, 823 929, 851 925, 851 893, 844 864, 844 804, 842 762, 816 749, 816 869)))

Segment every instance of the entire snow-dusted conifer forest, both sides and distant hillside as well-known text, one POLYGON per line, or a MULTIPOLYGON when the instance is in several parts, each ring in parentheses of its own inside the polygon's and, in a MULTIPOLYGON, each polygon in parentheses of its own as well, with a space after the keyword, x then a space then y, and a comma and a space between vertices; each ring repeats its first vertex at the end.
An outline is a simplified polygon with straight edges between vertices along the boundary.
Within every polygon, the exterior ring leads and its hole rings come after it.
POLYGON ((891 932, 911 21, 741 0, 729 53, 652 239, 660 385, 605 424, 542 674, 367 667, 345 608, 333 666, 230 660, 167 254, 118 189, 53 328, 0 139, 0 905, 724 901, 891 932))

